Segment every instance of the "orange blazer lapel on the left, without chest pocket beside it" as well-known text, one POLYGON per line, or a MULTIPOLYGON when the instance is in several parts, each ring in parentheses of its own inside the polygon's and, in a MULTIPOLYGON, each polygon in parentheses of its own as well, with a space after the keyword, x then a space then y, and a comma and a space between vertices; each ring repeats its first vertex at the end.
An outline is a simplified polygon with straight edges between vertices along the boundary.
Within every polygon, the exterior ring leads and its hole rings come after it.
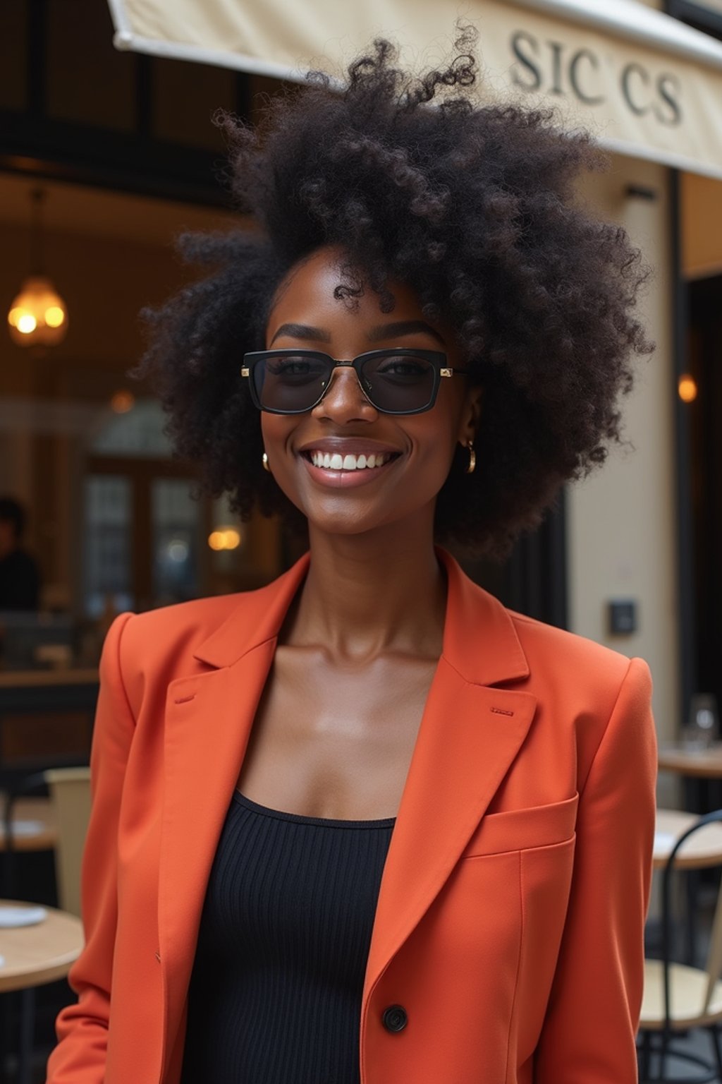
POLYGON ((168 686, 158 873, 167 1057, 182 1019, 193 945, 223 821, 278 630, 307 565, 306 555, 280 579, 244 597, 238 609, 196 649, 195 657, 215 669, 180 678, 168 686))

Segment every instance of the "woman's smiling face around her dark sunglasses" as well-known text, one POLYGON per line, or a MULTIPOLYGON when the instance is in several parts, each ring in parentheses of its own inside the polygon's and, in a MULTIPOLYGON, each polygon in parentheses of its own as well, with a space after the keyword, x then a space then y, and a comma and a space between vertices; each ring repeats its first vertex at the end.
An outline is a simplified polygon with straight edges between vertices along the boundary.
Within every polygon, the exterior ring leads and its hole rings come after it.
MULTIPOLYGON (((390 283, 395 298, 383 313, 367 288, 350 305, 334 291, 344 280, 343 251, 326 247, 297 264, 281 283, 268 317, 267 350, 320 350, 352 359, 385 347, 418 348, 459 358, 451 335, 430 324, 411 289, 390 283)), ((473 439, 481 389, 465 376, 439 382, 434 406, 422 414, 379 412, 353 369, 336 369, 324 399, 304 414, 261 413, 268 466, 312 529, 354 534, 419 515, 433 525, 436 494, 457 443, 473 439), (338 470, 314 465, 313 453, 382 456, 383 465, 338 470)), ((318 462, 318 456, 316 455, 318 462)), ((338 462, 338 461, 337 461, 338 462)), ((459 469, 457 467, 457 469, 459 469)))

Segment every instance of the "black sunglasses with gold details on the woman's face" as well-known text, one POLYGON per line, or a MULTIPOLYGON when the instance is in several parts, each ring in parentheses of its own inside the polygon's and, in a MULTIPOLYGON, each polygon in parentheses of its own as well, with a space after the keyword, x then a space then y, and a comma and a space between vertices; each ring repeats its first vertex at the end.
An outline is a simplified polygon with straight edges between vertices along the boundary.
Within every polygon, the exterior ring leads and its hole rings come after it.
POLYGON ((338 366, 352 367, 360 389, 382 414, 421 414, 436 402, 443 376, 468 374, 449 369, 436 350, 369 350, 339 361, 317 350, 258 350, 244 354, 241 376, 251 399, 271 414, 304 414, 321 401, 338 366))

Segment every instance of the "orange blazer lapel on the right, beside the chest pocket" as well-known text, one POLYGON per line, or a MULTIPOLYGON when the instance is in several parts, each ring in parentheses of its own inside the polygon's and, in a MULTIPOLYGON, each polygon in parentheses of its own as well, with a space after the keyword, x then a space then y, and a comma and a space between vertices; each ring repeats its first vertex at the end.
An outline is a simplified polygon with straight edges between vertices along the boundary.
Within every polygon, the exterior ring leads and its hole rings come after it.
POLYGON ((444 647, 381 880, 364 1005, 449 877, 536 710, 529 693, 491 687, 529 673, 509 614, 437 553, 448 576, 444 647))

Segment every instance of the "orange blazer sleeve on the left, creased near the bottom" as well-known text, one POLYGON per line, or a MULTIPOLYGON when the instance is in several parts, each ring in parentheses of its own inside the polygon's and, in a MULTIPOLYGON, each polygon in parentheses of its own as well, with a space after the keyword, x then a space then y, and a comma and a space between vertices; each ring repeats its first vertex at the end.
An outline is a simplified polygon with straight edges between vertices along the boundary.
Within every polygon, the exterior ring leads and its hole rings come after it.
POLYGON ((84 949, 68 982, 77 1004, 60 1012, 57 1046, 47 1084, 103 1084, 117 922, 117 837, 120 798, 134 721, 120 669, 120 642, 132 614, 110 625, 100 664, 100 692, 91 748, 91 816, 82 860, 84 949))

